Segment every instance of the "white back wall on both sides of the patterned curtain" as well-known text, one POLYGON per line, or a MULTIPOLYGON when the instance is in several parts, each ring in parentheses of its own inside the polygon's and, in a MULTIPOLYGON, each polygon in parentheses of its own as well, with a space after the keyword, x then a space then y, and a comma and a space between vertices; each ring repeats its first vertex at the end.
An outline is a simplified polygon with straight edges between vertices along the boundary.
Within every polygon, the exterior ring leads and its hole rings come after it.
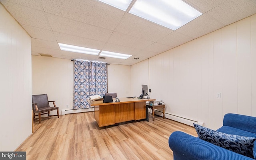
MULTIPOLYGON (((32 56, 32 94, 48 94, 49 100, 56 101, 60 114, 63 109, 73 109, 73 77, 71 60, 32 56)), ((108 92, 130 96, 130 66, 108 65, 108 92)), ((56 111, 51 114, 56 115, 56 111)))

